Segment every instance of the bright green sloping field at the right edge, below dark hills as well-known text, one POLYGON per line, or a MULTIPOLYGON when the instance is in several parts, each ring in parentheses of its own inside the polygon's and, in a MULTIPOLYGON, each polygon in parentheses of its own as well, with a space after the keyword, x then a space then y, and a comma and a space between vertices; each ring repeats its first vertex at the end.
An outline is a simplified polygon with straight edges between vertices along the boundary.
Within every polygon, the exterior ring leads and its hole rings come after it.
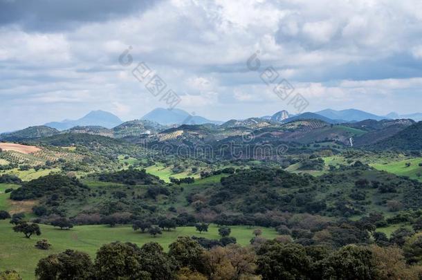
POLYGON ((422 163, 422 158, 385 162, 382 164, 377 163, 371 166, 378 170, 387 171, 398 176, 408 176, 409 178, 422 182, 422 167, 419 166, 419 163, 422 163), (410 167, 407 167, 406 163, 410 163, 410 167))

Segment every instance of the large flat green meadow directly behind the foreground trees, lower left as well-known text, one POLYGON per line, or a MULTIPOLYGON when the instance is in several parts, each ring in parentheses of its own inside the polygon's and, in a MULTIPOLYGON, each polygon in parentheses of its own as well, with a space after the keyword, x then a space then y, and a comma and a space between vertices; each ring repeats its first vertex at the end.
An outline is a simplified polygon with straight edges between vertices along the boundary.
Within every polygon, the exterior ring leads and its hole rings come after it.
MULTIPOLYGON (((241 245, 248 245, 253 238, 254 227, 233 226, 231 236, 235 236, 241 245)), ((66 249, 80 250, 89 253, 92 257, 104 243, 113 241, 131 242, 138 245, 155 241, 165 250, 168 249, 177 236, 202 236, 208 239, 219 239, 217 226, 210 225, 209 232, 199 234, 194 227, 177 227, 171 232, 163 232, 156 238, 149 234, 134 232, 131 226, 108 227, 105 225, 83 225, 73 227, 72 230, 58 230, 49 225, 41 225, 42 235, 26 239, 22 234, 13 232, 8 220, 0 221, 0 270, 17 270, 24 280, 35 279, 33 273, 37 261, 49 254, 62 252, 66 249), (39 239, 48 239, 52 244, 51 250, 39 250, 34 247, 39 239)), ((262 228, 263 237, 273 239, 277 232, 273 229, 262 228)))

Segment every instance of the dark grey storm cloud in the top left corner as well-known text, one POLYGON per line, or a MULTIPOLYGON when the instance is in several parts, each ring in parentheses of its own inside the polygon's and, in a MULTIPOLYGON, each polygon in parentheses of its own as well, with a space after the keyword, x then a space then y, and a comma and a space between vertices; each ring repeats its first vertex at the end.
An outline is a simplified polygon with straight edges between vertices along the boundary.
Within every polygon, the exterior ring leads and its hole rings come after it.
POLYGON ((57 31, 84 23, 118 19, 147 10, 158 0, 0 0, 0 26, 57 31))

